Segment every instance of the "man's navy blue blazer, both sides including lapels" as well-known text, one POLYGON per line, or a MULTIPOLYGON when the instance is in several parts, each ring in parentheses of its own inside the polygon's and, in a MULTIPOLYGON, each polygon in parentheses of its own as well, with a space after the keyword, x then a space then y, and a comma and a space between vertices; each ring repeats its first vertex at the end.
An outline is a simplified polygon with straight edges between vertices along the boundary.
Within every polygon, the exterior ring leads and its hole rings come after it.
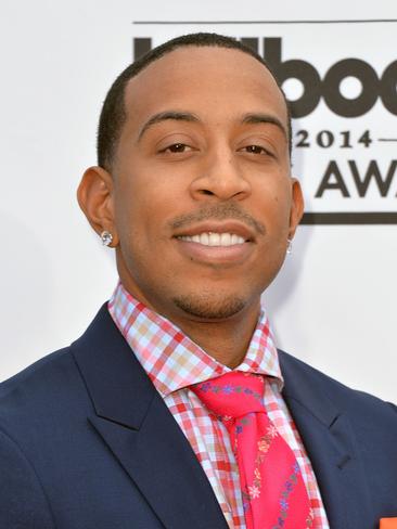
MULTIPOLYGON (((332 529, 397 516, 396 408, 280 351, 332 529)), ((189 442, 106 307, 0 385, 1 529, 227 529, 189 442)))

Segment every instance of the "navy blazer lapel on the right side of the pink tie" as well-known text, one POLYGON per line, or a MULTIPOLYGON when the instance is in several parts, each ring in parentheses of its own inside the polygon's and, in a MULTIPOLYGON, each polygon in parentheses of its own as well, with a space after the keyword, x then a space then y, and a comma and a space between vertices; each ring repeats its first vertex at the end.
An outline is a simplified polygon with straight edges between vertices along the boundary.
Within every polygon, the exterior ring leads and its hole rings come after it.
POLYGON ((315 370, 282 351, 280 364, 283 397, 311 461, 330 526, 369 527, 372 501, 348 417, 324 393, 315 370))

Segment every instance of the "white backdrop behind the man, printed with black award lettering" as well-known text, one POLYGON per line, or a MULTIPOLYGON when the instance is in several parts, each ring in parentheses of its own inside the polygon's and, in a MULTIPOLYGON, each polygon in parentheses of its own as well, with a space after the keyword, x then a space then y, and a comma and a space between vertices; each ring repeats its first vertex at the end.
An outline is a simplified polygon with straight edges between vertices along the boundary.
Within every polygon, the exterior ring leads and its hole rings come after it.
MULTIPOLYGON (((101 103, 131 61, 133 38, 151 37, 158 43, 189 30, 217 30, 258 37, 261 47, 265 36, 280 37, 283 60, 306 60, 321 78, 347 57, 366 61, 381 77, 397 60, 397 23, 269 24, 358 18, 397 20, 397 4, 1 3, 0 379, 75 339, 115 285, 112 251, 90 231, 75 190, 84 169, 95 163, 101 103), (152 24, 133 24, 142 21, 152 24), (220 24, 227 21, 258 22, 220 24)), ((293 98, 302 87, 289 81, 285 89, 293 98)), ((347 79, 344 90, 346 96, 355 96, 355 79, 347 79)), ((396 116, 380 100, 366 115, 353 118, 337 116, 320 101, 313 113, 296 119, 295 134, 307 130, 310 141, 294 155, 308 211, 397 212, 397 171, 390 172, 386 196, 380 196, 372 182, 360 197, 347 170, 348 160, 354 160, 364 173, 375 159, 385 179, 397 158, 397 143, 380 139, 397 138, 396 125, 396 116), (322 130, 334 136, 330 147, 316 144, 322 130), (373 140, 368 147, 357 143, 366 130, 373 140), (349 131, 355 143, 344 151, 341 131, 349 131), (316 198, 331 159, 337 160, 349 196, 343 196, 340 182, 338 190, 328 189, 316 198)), ((328 180, 335 182, 337 175, 328 180)), ((300 227, 292 256, 264 297, 278 345, 341 382, 397 401, 396 270, 397 224, 300 227)))

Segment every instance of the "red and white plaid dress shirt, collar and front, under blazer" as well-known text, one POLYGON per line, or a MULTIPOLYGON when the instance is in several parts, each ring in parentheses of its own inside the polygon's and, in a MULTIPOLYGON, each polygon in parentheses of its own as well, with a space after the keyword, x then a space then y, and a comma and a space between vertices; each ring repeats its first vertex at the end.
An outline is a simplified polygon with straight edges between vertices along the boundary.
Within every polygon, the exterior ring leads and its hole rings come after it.
MULTIPOLYGON (((208 414, 189 386, 230 371, 209 357, 169 320, 137 301, 119 283, 110 313, 193 448, 230 528, 245 529, 238 464, 221 422, 208 414)), ((316 529, 329 529, 319 487, 300 437, 281 396, 283 378, 269 322, 261 312, 239 371, 267 377, 264 404, 293 449, 302 469, 316 529)))

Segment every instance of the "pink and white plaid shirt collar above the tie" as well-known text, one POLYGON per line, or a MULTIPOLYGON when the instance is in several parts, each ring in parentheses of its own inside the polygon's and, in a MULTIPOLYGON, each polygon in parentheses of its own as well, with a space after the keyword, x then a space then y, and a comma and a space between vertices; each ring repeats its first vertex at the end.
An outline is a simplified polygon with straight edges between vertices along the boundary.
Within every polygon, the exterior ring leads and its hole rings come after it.
MULTIPOLYGON (((135 299, 121 283, 108 301, 108 311, 163 397, 231 371, 207 354, 172 322, 135 299)), ((273 377, 282 389, 278 352, 264 310, 247 353, 235 370, 273 377)))

